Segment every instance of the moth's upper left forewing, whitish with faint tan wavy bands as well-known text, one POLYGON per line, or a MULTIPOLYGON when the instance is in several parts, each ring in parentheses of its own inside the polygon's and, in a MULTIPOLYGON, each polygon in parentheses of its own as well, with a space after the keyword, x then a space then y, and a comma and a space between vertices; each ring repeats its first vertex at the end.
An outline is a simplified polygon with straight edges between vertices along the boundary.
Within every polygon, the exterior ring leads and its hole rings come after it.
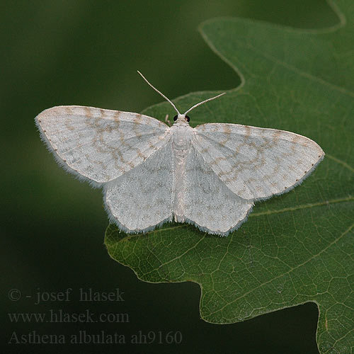
POLYGON ((147 115, 79 105, 49 108, 35 122, 59 164, 93 183, 112 181, 138 166, 170 133, 147 115))

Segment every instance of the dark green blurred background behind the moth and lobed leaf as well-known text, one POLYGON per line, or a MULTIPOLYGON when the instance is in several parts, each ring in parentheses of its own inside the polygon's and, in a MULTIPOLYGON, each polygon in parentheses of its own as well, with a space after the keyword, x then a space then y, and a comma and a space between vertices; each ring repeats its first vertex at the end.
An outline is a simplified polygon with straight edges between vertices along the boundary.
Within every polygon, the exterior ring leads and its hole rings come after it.
POLYGON ((318 353, 315 304, 232 325, 200 320, 195 283, 149 284, 115 263, 103 244, 101 190, 57 166, 35 115, 54 105, 139 112, 161 98, 231 89, 239 77, 203 42, 198 25, 240 16, 297 28, 338 18, 324 0, 1 1, 2 353, 318 353), (124 292, 125 302, 79 302, 79 288, 124 292), (35 305, 36 292, 73 289, 69 302, 35 305), (11 301, 8 291, 21 290, 11 301), (30 297, 31 296, 31 297, 30 297), (11 323, 8 312, 127 313, 129 323, 11 323), (125 345, 7 344, 18 335, 125 334, 125 345), (130 345, 138 333, 181 331, 178 345, 130 345))

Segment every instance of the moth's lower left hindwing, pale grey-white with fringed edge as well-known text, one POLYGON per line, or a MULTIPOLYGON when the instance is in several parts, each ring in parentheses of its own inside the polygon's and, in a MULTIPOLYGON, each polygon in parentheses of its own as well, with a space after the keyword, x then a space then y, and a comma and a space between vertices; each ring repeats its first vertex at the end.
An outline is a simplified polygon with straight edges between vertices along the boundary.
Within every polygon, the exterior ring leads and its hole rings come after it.
POLYGON ((172 219, 173 151, 168 140, 146 161, 103 186, 110 221, 125 232, 147 232, 172 219))

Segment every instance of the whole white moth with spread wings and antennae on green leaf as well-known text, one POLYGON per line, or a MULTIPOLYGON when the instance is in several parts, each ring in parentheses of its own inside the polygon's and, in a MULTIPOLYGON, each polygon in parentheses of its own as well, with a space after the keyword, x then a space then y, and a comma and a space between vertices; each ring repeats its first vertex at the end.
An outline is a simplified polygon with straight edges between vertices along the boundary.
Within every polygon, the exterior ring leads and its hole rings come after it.
POLYGON ((190 127, 187 113, 219 96, 183 114, 166 98, 178 113, 171 127, 139 113, 78 105, 49 108, 35 122, 64 169, 103 188, 110 221, 122 231, 147 232, 174 219, 227 236, 255 201, 301 183, 324 152, 283 130, 190 127))

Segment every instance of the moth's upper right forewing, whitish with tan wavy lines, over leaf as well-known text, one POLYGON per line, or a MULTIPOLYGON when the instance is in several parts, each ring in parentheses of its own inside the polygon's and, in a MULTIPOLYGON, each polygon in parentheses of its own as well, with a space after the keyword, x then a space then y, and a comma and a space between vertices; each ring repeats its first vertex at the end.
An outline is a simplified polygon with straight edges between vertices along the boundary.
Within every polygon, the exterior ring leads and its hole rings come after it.
POLYGON ((195 132, 195 146, 212 171, 247 200, 287 192, 324 158, 316 142, 284 130, 210 123, 195 132))

